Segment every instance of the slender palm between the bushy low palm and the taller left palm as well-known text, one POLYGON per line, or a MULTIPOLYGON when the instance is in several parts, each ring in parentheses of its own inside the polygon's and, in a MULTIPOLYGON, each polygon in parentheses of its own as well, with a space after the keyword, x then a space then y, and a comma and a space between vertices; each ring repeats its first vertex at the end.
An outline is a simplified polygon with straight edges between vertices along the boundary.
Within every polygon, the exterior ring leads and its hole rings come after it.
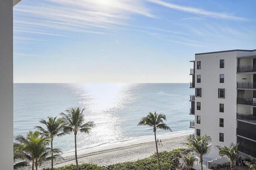
MULTIPOLYGON (((44 129, 41 126, 36 126, 35 128, 38 129, 41 133, 41 135, 48 136, 50 137, 50 142, 51 142, 51 149, 53 149, 53 139, 54 137, 58 136, 63 136, 65 133, 63 132, 63 120, 62 119, 57 119, 56 117, 48 117, 48 121, 41 119, 39 121, 40 123, 44 124, 46 126, 46 129, 44 129)), ((52 152, 52 170, 53 170, 53 152, 52 152)))

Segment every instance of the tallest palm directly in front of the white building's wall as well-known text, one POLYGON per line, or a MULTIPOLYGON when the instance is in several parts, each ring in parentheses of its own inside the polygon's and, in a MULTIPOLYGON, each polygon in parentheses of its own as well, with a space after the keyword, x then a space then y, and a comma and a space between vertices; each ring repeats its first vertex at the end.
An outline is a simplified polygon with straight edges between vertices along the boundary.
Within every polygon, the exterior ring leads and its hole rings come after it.
POLYGON ((196 136, 188 138, 190 143, 187 143, 191 150, 194 150, 200 157, 201 170, 203 170, 203 155, 208 154, 211 150, 212 138, 208 135, 196 136))

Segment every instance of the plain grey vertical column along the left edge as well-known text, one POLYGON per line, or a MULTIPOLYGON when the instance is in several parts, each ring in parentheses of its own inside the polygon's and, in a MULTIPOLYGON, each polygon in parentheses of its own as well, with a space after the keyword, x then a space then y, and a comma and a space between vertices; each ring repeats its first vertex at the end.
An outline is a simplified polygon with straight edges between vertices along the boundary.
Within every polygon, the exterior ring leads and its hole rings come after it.
POLYGON ((12 0, 0 2, 0 170, 13 169, 12 0))

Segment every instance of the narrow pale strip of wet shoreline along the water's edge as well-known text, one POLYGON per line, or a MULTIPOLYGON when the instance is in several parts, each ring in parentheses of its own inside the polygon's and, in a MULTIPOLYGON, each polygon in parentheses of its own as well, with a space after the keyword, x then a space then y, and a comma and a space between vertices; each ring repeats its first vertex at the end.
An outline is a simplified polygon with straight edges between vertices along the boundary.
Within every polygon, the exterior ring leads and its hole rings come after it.
MULTIPOLYGON (((175 138, 175 137, 182 137, 182 136, 190 135, 191 133, 194 133, 194 131, 178 131, 177 133, 174 132, 174 133, 170 133, 170 134, 157 135, 156 138, 159 140, 160 139, 164 140, 164 139, 171 139, 171 138, 175 138)), ((130 145, 148 143, 148 142, 152 142, 152 141, 154 141, 154 135, 142 137, 142 138, 138 138, 138 139, 132 139, 132 140, 128 140, 128 141, 120 141, 120 142, 115 142, 115 143, 111 143, 111 144, 104 144, 104 145, 93 147, 90 149, 79 150, 79 151, 77 151, 77 155, 79 156, 82 154, 98 152, 101 150, 109 150, 109 149, 115 149, 115 148, 120 148, 120 147, 127 147, 130 145)), ((75 151, 62 154, 63 157, 74 156, 74 155, 75 155, 75 151)))

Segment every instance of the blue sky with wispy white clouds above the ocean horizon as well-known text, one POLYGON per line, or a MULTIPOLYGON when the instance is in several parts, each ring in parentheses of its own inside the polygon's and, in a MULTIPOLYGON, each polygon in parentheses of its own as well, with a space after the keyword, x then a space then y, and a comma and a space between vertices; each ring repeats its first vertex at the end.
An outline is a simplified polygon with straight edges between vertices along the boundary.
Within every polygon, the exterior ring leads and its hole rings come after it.
POLYGON ((14 82, 192 81, 195 53, 256 49, 255 0, 22 0, 14 82))

